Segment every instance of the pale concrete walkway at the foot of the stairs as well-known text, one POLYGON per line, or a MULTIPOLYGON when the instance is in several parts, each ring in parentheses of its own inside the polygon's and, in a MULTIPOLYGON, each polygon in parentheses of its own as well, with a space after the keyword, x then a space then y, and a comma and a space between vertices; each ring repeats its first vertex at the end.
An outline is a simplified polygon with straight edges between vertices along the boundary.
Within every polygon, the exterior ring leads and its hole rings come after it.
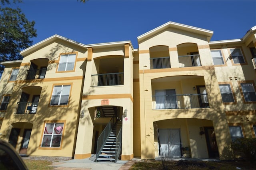
POLYGON ((90 158, 73 159, 62 162, 56 162, 50 166, 54 170, 128 170, 134 164, 132 161, 118 160, 115 162, 94 162, 90 158))

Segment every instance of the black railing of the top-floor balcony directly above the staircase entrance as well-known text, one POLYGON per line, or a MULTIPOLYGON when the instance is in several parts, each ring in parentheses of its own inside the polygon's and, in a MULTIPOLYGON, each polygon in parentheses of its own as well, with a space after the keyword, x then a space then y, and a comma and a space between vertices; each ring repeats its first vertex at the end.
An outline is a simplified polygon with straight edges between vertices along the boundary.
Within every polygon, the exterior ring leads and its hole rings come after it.
POLYGON ((124 73, 107 73, 92 75, 91 87, 124 85, 124 73))

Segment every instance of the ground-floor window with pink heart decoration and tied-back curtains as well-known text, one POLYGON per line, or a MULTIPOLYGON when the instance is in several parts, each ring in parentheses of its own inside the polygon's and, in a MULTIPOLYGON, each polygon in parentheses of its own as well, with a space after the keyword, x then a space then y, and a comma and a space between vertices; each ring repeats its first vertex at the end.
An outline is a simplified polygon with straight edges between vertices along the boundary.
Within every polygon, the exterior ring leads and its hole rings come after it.
POLYGON ((41 147, 60 147, 64 123, 46 123, 41 147))

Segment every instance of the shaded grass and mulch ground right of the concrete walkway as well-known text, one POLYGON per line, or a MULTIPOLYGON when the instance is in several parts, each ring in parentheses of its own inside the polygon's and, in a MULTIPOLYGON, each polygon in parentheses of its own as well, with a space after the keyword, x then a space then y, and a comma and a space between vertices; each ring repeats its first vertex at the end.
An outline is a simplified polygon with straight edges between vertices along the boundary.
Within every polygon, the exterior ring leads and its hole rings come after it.
POLYGON ((256 162, 248 161, 220 161, 220 162, 200 162, 200 161, 167 161, 166 169, 161 161, 137 161, 129 170, 255 170, 256 162))

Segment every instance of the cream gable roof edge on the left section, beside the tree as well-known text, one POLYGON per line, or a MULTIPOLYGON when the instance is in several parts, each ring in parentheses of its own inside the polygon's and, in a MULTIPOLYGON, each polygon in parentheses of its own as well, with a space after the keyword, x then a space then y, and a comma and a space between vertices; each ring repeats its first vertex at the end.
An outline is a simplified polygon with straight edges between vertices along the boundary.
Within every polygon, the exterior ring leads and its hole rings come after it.
POLYGON ((63 40, 65 42, 69 42, 69 43, 74 44, 76 46, 80 46, 82 48, 86 48, 86 46, 84 44, 80 43, 80 42, 76 42, 74 40, 70 40, 68 38, 65 38, 65 37, 62 37, 62 36, 59 36, 59 35, 55 34, 54 36, 46 38, 45 40, 42 40, 41 42, 38 42, 38 43, 36 43, 36 44, 26 48, 25 50, 22 50, 20 52, 20 54, 22 56, 26 56, 27 54, 30 54, 31 52, 37 50, 38 48, 41 48, 41 47, 43 47, 43 46, 45 46, 45 45, 47 45, 47 44, 49 44, 51 42, 54 42, 56 40, 63 40))

